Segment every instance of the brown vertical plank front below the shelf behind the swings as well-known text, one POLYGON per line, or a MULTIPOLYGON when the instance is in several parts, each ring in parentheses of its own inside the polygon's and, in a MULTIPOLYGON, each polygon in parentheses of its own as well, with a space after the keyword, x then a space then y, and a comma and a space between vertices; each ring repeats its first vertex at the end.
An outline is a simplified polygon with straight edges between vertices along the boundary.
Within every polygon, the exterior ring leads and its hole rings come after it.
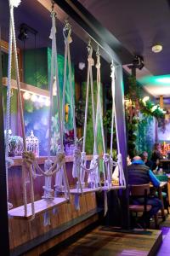
MULTIPOLYGON (((66 164, 67 174, 69 177, 69 182, 71 186, 74 185, 75 181, 71 177, 71 168, 72 163, 66 164)), ((53 180, 54 183, 54 180, 53 180)), ((44 177, 37 177, 34 180, 34 189, 35 189, 35 200, 39 200, 42 196, 42 185, 44 184, 44 177)), ((8 187, 9 187, 9 201, 13 203, 14 207, 19 207, 23 204, 22 201, 22 184, 21 184, 21 167, 15 166, 9 169, 8 172, 8 187)), ((28 184, 29 188, 29 184, 28 184)), ((18 220, 18 219, 9 219, 9 236, 10 236, 10 248, 13 250, 16 247, 19 247, 25 244, 32 239, 36 239, 38 236, 42 236, 50 231, 54 230, 62 224, 66 224, 72 219, 78 218, 87 212, 96 209, 96 198, 95 193, 89 193, 86 195, 80 196, 80 210, 77 211, 74 207, 74 196, 71 195, 71 203, 66 203, 57 207, 54 211, 49 211, 49 216, 51 219, 51 224, 48 226, 43 226, 43 213, 37 215, 36 218, 32 221, 28 220, 18 220)), ((97 218, 97 216, 95 217, 97 218)), ((62 241, 65 236, 69 237, 71 234, 77 232, 77 230, 81 230, 84 226, 89 223, 93 223, 94 218, 91 220, 85 221, 85 224, 78 224, 77 227, 73 227, 70 231, 65 233, 65 235, 59 236, 60 238, 54 238, 54 240, 48 241, 50 247, 54 246, 54 244, 58 241, 62 241), (70 235, 69 235, 70 234, 70 235)), ((47 247, 49 247, 49 244, 47 247)), ((42 247, 42 246, 41 246, 42 247)), ((43 246, 44 248, 46 245, 43 246)), ((39 250, 39 249, 38 249, 39 250)), ((43 249, 44 250, 44 249, 43 249)), ((39 254, 35 254, 39 255, 39 254)))

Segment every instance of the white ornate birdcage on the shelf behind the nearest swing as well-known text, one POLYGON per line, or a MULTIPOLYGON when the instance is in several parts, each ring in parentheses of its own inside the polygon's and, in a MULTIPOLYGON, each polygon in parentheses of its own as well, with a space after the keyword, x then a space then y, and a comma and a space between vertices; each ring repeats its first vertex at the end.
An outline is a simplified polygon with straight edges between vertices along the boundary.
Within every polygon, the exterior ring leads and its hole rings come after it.
POLYGON ((31 136, 26 137, 26 150, 33 152, 36 156, 39 156, 39 141, 38 138, 34 136, 31 130, 31 136))

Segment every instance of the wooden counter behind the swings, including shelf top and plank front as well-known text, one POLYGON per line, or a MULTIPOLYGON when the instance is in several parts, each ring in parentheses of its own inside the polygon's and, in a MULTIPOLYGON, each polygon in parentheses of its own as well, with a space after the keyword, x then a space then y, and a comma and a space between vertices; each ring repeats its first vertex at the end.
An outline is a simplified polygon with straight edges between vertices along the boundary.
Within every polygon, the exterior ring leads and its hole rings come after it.
MULTIPOLYGON (((44 160, 47 156, 38 157, 37 162, 43 168, 44 160)), ((54 157, 51 158, 52 160, 54 157)), ((92 155, 87 156, 87 160, 91 160, 92 155)), ((22 172, 21 172, 21 157, 14 157, 14 166, 8 169, 8 201, 14 207, 23 205, 23 191, 22 191, 22 172)), ((75 188, 77 179, 72 177, 72 163, 73 157, 66 156, 66 172, 71 188, 75 188)), ((89 165, 89 162, 88 162, 89 165)), ((87 181, 87 175, 85 180, 87 181)), ((40 201, 43 195, 42 186, 44 185, 44 177, 37 177, 33 180, 35 201, 40 201)), ((54 189, 55 176, 52 177, 52 188, 54 189)), ((30 183, 26 184, 28 191, 28 202, 30 202, 30 183)), ((44 212, 37 214, 32 221, 26 219, 9 218, 9 236, 11 255, 28 255, 25 253, 30 251, 29 255, 33 253, 33 247, 38 247, 38 250, 45 252, 48 248, 54 247, 60 241, 83 230, 89 224, 93 224, 99 219, 98 208, 96 202, 95 192, 86 193, 79 196, 80 210, 75 207, 75 195, 71 195, 70 203, 59 205, 53 209, 47 209, 50 216, 51 224, 44 226, 43 217, 44 212)), ((47 212, 46 211, 46 212, 47 212)), ((39 255, 39 254, 34 254, 39 255)))

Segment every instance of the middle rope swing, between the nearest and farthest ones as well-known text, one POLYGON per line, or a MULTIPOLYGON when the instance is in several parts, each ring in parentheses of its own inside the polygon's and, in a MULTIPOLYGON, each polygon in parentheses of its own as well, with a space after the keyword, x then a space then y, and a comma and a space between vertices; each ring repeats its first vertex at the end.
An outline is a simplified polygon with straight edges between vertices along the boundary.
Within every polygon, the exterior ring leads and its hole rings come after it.
MULTIPOLYGON (((92 66, 94 65, 94 60, 92 58, 93 49, 91 43, 88 43, 88 79, 87 79, 87 96, 86 96, 86 109, 85 109, 85 125, 84 125, 84 137, 83 137, 83 146, 82 146, 82 155, 80 149, 77 147, 77 127, 76 127, 76 118, 75 118, 75 104, 73 99, 73 89, 71 83, 71 55, 70 55, 70 44, 71 44, 71 26, 68 22, 65 25, 64 29, 64 37, 65 37, 65 76, 66 76, 66 61, 68 58, 68 67, 69 67, 69 79, 70 79, 70 90, 71 90, 71 103, 72 103, 72 112, 73 112, 73 126, 74 126, 74 160, 73 160, 73 168, 72 168, 72 176, 77 178, 77 188, 71 189, 71 195, 82 195, 86 193, 91 193, 98 191, 100 188, 100 180, 99 180, 99 155, 97 155, 96 150, 96 133, 95 133, 95 109, 94 109, 94 84, 93 84, 93 75, 92 75, 92 66), (87 119, 88 119, 88 95, 89 95, 89 84, 91 85, 92 92, 92 106, 93 106, 93 120, 94 120, 94 158, 91 161, 90 168, 86 167, 86 154, 85 154, 85 141, 86 141, 86 132, 87 132, 87 119), (98 179, 91 182, 90 188, 85 188, 84 178, 85 172, 97 172, 98 179)), ((65 78, 64 78, 65 81, 65 78)), ((65 96, 65 83, 63 96, 65 96)), ((64 109, 64 108, 63 108, 64 109)), ((64 117, 64 113, 63 113, 64 117)), ((95 174, 94 174, 95 175, 95 174)), ((90 183, 89 182, 89 183, 90 183)))

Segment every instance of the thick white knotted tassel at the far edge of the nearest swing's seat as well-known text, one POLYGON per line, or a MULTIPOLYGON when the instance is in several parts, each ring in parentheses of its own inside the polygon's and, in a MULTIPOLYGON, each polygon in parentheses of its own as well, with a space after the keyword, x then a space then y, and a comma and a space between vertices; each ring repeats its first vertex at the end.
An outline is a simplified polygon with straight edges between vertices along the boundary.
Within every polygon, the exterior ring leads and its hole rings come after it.
MULTIPOLYGON (((52 164, 52 160, 45 160, 44 171, 46 172, 46 174, 48 174, 48 170, 51 168, 52 164)), ((45 186, 43 186, 44 194, 42 196, 42 198, 44 199, 54 199, 54 196, 52 195, 54 189, 51 189, 51 179, 51 176, 45 176, 45 186)))

